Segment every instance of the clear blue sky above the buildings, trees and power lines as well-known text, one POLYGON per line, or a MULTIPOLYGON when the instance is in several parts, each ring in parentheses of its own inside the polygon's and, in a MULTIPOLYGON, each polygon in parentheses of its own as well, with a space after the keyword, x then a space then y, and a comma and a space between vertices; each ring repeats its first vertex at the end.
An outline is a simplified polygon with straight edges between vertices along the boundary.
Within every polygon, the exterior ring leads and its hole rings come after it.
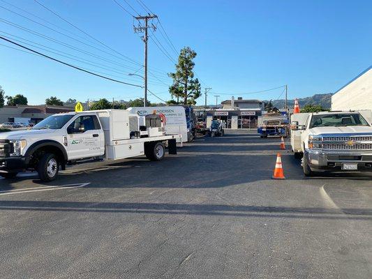
MULTIPOLYGON (((140 77, 128 76, 128 73, 135 71, 143 75, 140 66, 143 64, 144 52, 142 40, 139 34, 133 32, 133 17, 121 10, 113 0, 38 1, 112 47, 120 55, 74 29, 34 0, 0 0, 0 6, 8 8, 0 8, 0 19, 91 52, 101 59, 71 50, 1 21, 0 35, 19 40, 12 37, 18 36, 52 47, 77 56, 78 59, 85 59, 84 61, 93 63, 94 66, 32 48, 82 68, 109 74, 124 82, 142 84, 140 77), (9 3, 57 27, 18 10, 9 3), (41 27, 9 10, 99 50, 41 27), (121 54, 137 63, 127 61, 121 54), (105 69, 97 68, 98 64, 105 69)), ((144 8, 137 0, 117 1, 132 14, 135 12, 127 3, 137 13, 144 13, 144 8)), ((219 100, 228 99, 232 95, 262 100, 276 99, 283 97, 283 89, 246 95, 244 93, 284 84, 288 84, 288 98, 334 92, 372 64, 372 1, 142 1, 158 15, 177 50, 190 46, 198 53, 195 72, 202 80, 202 91, 204 92, 204 87, 212 88, 208 103, 215 103, 214 95, 220 95, 219 100)), ((159 29, 155 34, 173 59, 177 59, 159 29)), ((153 35, 150 33, 150 36, 153 35)), ((81 101, 99 98, 128 100, 143 96, 143 89, 102 80, 53 61, 10 49, 3 46, 10 46, 3 41, 0 44, 0 85, 7 95, 24 94, 30 104, 42 104, 49 96, 81 101)), ((149 89, 163 100, 169 100, 170 80, 166 73, 174 70, 174 63, 151 39, 149 68, 152 73, 149 89)), ((158 101, 151 95, 149 100, 158 101)), ((198 104, 204 104, 204 96, 198 99, 198 104)))

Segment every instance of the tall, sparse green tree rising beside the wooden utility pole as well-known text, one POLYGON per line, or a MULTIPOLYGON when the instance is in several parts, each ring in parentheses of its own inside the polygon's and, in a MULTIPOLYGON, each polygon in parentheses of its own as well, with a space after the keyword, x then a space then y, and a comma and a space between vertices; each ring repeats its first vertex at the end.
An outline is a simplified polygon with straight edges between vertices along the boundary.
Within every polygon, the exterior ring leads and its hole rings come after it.
POLYGON ((176 73, 168 74, 173 80, 173 84, 169 88, 170 94, 177 100, 181 98, 184 105, 195 105, 196 99, 201 96, 200 82, 198 78, 194 79, 195 63, 193 59, 195 56, 195 51, 190 47, 184 47, 178 57, 176 73))

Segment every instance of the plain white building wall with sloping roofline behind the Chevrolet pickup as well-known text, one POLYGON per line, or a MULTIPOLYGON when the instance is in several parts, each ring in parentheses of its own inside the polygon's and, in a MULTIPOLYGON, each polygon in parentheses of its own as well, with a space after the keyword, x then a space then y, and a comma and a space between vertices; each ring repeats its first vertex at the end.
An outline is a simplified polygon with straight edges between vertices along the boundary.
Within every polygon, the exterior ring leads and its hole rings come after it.
POLYGON ((372 110, 372 67, 332 96, 332 110, 372 110))

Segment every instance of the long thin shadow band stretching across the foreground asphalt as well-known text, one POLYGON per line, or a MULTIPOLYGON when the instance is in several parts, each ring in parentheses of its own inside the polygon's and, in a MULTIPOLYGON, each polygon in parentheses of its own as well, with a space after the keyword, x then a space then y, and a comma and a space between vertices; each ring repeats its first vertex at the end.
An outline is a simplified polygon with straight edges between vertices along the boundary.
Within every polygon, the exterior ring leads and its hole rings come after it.
POLYGON ((1 201, 0 210, 159 213, 237 217, 371 220, 372 209, 338 209, 284 206, 230 206, 225 204, 168 204, 131 202, 1 201))

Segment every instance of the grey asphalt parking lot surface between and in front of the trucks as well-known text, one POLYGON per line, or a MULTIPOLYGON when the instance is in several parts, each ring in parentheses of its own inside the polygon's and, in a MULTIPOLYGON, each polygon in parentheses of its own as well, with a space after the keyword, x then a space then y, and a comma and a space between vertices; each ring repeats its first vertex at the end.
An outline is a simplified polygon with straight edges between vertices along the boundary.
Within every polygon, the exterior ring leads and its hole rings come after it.
POLYGON ((0 179, 0 278, 372 278, 372 174, 305 178, 278 138, 0 179))

